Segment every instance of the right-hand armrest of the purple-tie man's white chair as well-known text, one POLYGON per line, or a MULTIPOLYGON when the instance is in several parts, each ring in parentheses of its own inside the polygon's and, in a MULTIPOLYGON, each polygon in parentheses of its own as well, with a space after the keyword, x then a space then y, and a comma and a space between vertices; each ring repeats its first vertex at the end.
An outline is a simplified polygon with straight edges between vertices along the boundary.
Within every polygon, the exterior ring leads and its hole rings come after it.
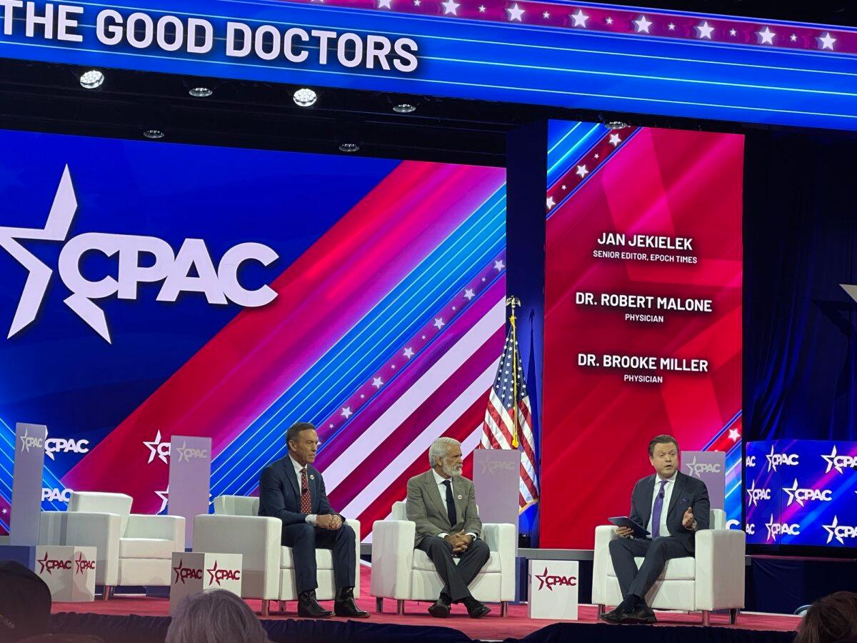
POLYGON ((743 608, 746 534, 704 529, 695 540, 697 610, 743 608))

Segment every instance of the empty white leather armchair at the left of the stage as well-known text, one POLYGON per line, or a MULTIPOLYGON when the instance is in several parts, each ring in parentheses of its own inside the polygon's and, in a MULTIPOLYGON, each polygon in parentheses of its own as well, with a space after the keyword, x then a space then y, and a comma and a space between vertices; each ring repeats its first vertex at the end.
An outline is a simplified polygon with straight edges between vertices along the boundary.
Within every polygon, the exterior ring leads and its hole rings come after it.
POLYGON ((131 496, 72 492, 69 509, 41 514, 39 542, 92 545, 103 598, 116 586, 169 586, 172 552, 184 551, 184 518, 131 514, 131 496))

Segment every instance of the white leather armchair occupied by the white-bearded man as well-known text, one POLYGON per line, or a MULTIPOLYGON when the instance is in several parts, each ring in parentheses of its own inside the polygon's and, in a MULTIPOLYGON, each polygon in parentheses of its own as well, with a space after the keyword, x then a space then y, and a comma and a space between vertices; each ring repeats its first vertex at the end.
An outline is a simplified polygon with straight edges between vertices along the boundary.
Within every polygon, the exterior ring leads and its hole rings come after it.
MULTIPOLYGON (((437 600, 443 581, 423 550, 414 549, 416 523, 407 519, 405 502, 393 503, 393 520, 378 520, 372 527, 371 594, 375 608, 383 610, 384 598, 396 600, 396 613, 405 613, 405 601, 437 600)), ((514 525, 482 525, 482 540, 491 557, 470 584, 473 598, 500 603, 506 616, 515 599, 516 529, 514 525)))

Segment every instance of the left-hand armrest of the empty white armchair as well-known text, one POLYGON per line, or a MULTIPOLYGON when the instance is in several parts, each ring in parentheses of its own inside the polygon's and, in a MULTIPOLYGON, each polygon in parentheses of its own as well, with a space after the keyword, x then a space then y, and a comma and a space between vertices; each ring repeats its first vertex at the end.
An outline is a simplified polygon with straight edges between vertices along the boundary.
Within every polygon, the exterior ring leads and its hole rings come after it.
POLYGON ((96 548, 96 585, 115 586, 119 580, 119 514, 85 511, 46 511, 41 514, 39 541, 44 544, 96 548))

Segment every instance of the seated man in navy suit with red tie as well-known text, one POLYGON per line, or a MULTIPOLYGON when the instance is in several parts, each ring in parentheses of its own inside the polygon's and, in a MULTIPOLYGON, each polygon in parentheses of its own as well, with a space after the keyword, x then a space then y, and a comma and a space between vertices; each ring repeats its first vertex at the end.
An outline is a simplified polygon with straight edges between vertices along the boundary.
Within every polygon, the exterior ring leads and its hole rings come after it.
POLYGON ((315 461, 319 437, 309 422, 293 424, 285 432, 289 454, 265 467, 259 482, 259 515, 283 521, 282 542, 291 547, 297 580, 297 614, 313 618, 331 616, 315 599, 315 550, 333 550, 336 600, 333 613, 369 618, 354 603, 355 535, 351 526, 333 512, 321 472, 315 461))

